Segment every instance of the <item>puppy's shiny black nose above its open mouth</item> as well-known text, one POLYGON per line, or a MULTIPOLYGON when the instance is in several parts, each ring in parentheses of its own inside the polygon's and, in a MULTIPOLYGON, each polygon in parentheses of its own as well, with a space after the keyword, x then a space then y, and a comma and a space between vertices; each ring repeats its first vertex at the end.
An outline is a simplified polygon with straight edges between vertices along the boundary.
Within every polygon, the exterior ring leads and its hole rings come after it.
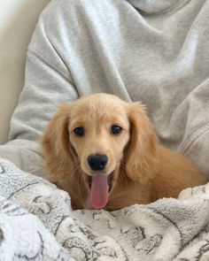
POLYGON ((94 154, 88 157, 89 166, 93 171, 103 171, 107 161, 106 155, 94 154))

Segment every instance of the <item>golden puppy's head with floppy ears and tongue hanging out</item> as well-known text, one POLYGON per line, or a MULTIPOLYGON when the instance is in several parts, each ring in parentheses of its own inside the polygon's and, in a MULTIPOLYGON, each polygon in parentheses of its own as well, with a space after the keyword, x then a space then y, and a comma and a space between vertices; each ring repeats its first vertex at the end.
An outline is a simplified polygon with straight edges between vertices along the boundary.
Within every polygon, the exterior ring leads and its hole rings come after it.
POLYGON ((74 173, 76 182, 81 174, 91 205, 101 209, 121 173, 139 182, 151 177, 156 141, 141 104, 95 94, 60 108, 43 136, 43 149, 54 180, 74 173))

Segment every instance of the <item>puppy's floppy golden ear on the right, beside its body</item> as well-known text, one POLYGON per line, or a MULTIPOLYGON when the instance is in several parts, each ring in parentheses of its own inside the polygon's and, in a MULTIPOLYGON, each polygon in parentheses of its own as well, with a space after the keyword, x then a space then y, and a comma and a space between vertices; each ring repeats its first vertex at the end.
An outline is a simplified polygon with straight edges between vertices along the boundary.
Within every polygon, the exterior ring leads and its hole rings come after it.
POLYGON ((126 167, 131 180, 151 179, 158 165, 158 138, 142 104, 128 104, 130 141, 126 153, 126 167))

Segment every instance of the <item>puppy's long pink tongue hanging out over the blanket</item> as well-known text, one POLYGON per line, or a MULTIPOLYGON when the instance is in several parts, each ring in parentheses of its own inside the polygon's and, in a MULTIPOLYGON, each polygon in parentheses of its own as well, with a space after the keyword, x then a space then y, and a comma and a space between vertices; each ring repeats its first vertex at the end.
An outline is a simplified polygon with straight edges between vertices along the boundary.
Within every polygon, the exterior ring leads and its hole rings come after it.
POLYGON ((102 209, 108 201, 108 176, 95 174, 91 180, 91 205, 94 209, 102 209))

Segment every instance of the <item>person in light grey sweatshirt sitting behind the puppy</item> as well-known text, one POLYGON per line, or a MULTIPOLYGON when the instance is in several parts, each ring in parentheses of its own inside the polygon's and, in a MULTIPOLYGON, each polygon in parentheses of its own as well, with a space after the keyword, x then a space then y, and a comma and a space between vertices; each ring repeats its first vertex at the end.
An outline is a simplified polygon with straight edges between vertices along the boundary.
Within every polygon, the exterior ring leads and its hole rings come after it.
POLYGON ((146 105, 160 141, 209 176, 209 0, 51 0, 0 147, 43 175, 40 136, 58 105, 95 92, 146 105))

